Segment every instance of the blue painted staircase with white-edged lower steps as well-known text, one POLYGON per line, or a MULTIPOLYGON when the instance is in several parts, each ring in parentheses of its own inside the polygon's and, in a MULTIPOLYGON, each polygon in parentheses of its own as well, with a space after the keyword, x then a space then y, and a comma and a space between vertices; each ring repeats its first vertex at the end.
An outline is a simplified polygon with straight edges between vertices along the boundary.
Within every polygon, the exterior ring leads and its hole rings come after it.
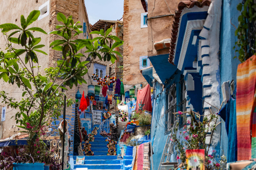
MULTIPOLYGON (((94 125, 94 127, 97 125, 94 125)), ((89 142, 94 152, 93 156, 84 156, 83 165, 76 165, 76 156, 74 156, 74 170, 76 168, 88 168, 94 170, 112 169, 112 170, 131 170, 132 156, 124 156, 124 159, 117 159, 117 156, 108 156, 107 138, 103 138, 98 132, 94 135, 94 142, 89 142)))

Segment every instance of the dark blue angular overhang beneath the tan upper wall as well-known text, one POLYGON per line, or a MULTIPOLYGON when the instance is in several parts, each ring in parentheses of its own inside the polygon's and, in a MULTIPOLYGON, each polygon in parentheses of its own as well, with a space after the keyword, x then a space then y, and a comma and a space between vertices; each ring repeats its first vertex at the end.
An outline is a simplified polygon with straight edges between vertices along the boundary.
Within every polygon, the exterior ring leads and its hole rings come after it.
POLYGON ((165 81, 175 73, 177 70, 177 66, 170 64, 168 61, 169 54, 164 55, 156 55, 156 56, 149 56, 149 60, 154 66, 158 77, 161 79, 163 84, 166 84, 165 81))

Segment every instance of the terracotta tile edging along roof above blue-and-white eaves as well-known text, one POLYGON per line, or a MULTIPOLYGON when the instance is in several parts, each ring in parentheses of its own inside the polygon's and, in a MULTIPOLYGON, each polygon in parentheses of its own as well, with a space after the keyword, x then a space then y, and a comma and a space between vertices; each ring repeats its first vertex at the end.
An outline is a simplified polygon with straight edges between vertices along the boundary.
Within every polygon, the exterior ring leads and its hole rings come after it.
POLYGON ((168 61, 169 63, 173 64, 174 58, 174 51, 175 51, 175 43, 178 36, 178 29, 179 29, 179 22, 180 22, 180 15, 183 9, 186 8, 193 8, 195 5, 198 7, 210 6, 211 0, 202 0, 202 1, 181 1, 178 5, 178 9, 175 10, 173 24, 172 24, 172 33, 171 33, 171 44, 170 44, 170 53, 168 61))

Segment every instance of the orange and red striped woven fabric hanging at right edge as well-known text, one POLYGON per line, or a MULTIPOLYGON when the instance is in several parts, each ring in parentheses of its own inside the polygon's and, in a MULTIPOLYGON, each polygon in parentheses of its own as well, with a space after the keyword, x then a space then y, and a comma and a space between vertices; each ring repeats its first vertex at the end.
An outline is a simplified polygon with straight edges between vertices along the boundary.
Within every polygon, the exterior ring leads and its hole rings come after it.
POLYGON ((237 68, 237 160, 256 158, 255 86, 256 56, 253 55, 237 68))

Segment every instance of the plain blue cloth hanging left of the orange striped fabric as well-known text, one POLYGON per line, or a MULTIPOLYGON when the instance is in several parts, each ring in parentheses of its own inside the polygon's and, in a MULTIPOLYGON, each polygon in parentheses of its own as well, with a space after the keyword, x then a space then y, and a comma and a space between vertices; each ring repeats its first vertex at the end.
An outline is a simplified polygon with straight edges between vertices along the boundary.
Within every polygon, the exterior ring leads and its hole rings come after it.
POLYGON ((228 103, 219 112, 225 121, 228 134, 228 157, 227 162, 237 161, 237 131, 236 131, 236 99, 231 97, 228 103))

